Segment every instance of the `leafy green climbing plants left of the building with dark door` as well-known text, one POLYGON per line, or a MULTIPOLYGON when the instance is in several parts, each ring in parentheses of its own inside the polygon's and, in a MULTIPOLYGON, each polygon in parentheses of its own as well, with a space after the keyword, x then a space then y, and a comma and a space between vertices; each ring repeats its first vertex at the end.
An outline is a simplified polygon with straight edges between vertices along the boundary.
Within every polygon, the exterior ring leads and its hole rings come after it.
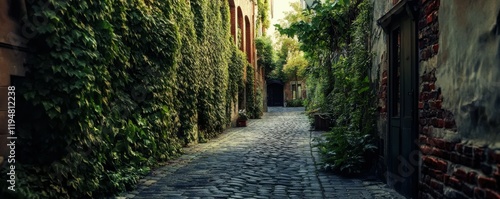
POLYGON ((297 36, 309 61, 307 109, 333 115, 335 128, 319 144, 324 164, 343 174, 358 173, 366 154, 373 152, 376 121, 376 100, 368 77, 370 2, 316 1, 301 14, 303 20, 278 29, 297 36))

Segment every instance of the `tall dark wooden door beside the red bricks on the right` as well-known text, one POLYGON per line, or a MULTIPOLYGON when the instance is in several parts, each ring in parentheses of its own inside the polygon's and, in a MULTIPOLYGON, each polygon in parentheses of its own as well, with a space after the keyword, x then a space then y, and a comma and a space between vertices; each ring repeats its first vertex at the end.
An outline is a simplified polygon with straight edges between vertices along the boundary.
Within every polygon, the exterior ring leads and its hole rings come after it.
POLYGON ((418 177, 415 23, 402 16, 389 28, 388 183, 416 197, 418 177), (415 157, 416 156, 416 157, 415 157))

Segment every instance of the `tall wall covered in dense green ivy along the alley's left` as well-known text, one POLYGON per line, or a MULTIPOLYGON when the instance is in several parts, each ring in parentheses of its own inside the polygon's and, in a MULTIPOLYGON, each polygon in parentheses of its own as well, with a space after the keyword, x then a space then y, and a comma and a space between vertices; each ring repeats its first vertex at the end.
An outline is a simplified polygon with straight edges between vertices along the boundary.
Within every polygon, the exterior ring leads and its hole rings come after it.
POLYGON ((117 193, 228 126, 248 63, 227 1, 27 4, 36 53, 13 83, 17 184, 1 198, 117 193))

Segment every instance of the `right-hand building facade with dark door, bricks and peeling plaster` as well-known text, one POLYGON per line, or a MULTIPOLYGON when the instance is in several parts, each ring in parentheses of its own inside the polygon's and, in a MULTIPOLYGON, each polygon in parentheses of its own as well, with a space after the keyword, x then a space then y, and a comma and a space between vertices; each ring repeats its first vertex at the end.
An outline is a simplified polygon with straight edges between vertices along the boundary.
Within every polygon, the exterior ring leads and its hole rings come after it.
POLYGON ((500 2, 372 3, 384 179, 409 198, 500 198, 500 2))

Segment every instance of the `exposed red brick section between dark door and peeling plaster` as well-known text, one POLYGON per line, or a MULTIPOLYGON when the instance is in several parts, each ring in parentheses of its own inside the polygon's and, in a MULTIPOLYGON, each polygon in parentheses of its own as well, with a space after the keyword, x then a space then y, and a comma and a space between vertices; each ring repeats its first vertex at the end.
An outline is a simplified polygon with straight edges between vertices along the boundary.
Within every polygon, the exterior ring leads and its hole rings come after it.
MULTIPOLYGON (((499 198, 500 150, 473 146, 457 134, 451 111, 436 86, 439 0, 421 0, 419 45, 419 198, 499 198)), ((383 83, 383 81, 382 81, 383 83)), ((384 86, 382 84, 382 86, 384 86)))

